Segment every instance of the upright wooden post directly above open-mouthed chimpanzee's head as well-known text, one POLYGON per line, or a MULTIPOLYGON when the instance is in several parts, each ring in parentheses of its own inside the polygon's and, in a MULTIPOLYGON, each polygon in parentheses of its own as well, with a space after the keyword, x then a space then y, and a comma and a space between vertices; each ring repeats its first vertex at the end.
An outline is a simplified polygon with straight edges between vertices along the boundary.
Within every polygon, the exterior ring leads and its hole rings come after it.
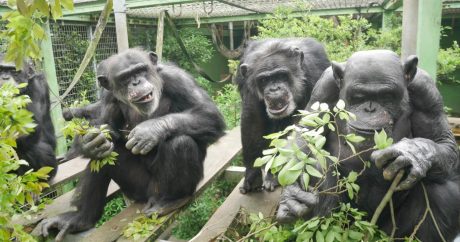
POLYGON ((129 48, 125 0, 115 0, 113 5, 113 12, 115 14, 118 52, 122 52, 129 48))

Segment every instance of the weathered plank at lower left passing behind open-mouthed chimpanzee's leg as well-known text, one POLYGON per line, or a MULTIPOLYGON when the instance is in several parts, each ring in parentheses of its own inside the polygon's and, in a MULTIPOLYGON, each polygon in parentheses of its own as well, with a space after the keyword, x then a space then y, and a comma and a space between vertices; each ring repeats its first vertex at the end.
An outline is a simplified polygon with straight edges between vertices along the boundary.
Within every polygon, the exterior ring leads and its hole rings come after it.
MULTIPOLYGON (((118 189, 119 189, 118 185, 115 182, 113 181, 110 182, 109 189, 107 191, 107 196, 113 195, 116 191, 118 191, 118 189)), ((32 214, 30 219, 26 219, 22 217, 13 219, 13 224, 21 224, 24 226, 30 226, 30 225, 34 225, 40 222, 44 218, 53 217, 58 214, 70 212, 74 210, 75 208, 70 205, 74 193, 75 193, 75 189, 54 199, 51 204, 48 204, 45 206, 45 209, 43 209, 42 211, 39 211, 38 213, 32 214)), ((40 227, 40 226, 37 226, 37 227, 40 227)))

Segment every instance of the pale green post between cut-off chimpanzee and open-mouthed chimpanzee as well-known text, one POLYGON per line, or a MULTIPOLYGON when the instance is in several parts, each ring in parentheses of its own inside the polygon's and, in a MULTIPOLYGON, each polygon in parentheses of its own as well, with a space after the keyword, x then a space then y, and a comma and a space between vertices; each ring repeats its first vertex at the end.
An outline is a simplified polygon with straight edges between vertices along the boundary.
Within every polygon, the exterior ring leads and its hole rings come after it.
POLYGON ((65 137, 62 135, 64 118, 62 117, 62 107, 59 100, 59 85, 56 76, 56 65, 54 63, 53 44, 51 42, 49 22, 46 22, 43 27, 46 32, 46 38, 41 43, 41 49, 43 52, 43 72, 50 89, 51 120, 53 121, 57 139, 56 154, 63 155, 67 151, 67 145, 65 137))

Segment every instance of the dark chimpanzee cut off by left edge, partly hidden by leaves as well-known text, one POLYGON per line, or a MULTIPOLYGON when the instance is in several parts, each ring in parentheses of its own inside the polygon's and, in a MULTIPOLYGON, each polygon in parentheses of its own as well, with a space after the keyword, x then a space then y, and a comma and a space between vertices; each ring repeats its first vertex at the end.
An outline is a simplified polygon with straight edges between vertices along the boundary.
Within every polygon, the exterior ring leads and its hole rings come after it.
POLYGON ((4 83, 27 83, 21 89, 20 95, 28 95, 32 103, 27 105, 27 110, 33 113, 34 122, 37 124, 34 131, 17 140, 17 153, 29 166, 21 166, 18 174, 27 170, 38 170, 44 166, 54 169, 48 174, 51 179, 57 171, 57 161, 54 150, 56 137, 50 117, 50 95, 45 77, 35 71, 30 61, 24 62, 23 69, 16 71, 16 65, 6 62, 4 54, 0 54, 0 85, 4 83))

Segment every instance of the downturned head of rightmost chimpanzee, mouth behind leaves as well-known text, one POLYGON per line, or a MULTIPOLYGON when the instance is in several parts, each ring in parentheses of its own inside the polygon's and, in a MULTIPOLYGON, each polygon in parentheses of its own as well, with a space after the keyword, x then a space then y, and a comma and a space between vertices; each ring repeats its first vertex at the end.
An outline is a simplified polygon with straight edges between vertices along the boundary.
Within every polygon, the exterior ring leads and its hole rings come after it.
POLYGON ((409 109, 407 84, 416 62, 415 57, 403 65, 395 53, 375 50, 353 54, 345 66, 332 64, 340 98, 357 117, 347 123, 350 132, 371 135, 385 129, 391 136, 394 124, 409 109))

